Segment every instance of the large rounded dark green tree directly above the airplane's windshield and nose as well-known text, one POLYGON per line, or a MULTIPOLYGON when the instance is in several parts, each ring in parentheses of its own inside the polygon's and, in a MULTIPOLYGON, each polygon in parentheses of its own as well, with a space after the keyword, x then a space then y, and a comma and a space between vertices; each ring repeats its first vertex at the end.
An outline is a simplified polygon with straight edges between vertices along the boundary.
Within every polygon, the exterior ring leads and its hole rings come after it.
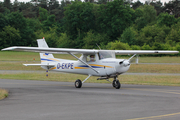
POLYGON ((123 0, 114 0, 98 9, 98 32, 107 34, 111 40, 117 39, 123 30, 133 23, 134 10, 123 0))

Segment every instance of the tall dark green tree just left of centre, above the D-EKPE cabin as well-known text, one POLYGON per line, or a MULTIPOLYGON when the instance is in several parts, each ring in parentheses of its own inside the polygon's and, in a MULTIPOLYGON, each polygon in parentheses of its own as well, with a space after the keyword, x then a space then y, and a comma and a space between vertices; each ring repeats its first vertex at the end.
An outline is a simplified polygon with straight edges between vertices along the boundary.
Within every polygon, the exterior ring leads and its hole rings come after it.
POLYGON ((95 16, 92 13, 92 9, 92 3, 81 1, 72 1, 71 5, 65 7, 66 33, 71 39, 76 39, 75 43, 77 46, 82 43, 81 39, 85 36, 86 32, 94 29, 95 16))

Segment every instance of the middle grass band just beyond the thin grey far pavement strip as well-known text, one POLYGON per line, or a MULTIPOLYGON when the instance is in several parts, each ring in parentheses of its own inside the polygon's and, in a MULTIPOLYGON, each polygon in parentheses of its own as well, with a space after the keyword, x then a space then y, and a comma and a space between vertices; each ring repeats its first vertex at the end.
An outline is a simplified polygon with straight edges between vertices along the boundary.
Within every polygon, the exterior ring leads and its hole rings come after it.
MULTIPOLYGON (((28 64, 28 63, 27 63, 28 64)), ((22 62, 0 62, 0 70, 44 70, 40 66, 24 66, 22 62)), ((45 71, 45 70, 44 70, 45 71)), ((132 64, 131 73, 180 73, 180 65, 171 64, 132 64)))

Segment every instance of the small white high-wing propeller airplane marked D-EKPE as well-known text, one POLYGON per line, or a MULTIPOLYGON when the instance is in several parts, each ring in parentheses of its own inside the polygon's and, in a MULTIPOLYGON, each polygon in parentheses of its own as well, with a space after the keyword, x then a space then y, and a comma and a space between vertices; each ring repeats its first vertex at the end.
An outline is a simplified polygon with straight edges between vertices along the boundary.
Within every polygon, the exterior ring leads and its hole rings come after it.
MULTIPOLYGON (((14 51, 30 51, 39 52, 41 57, 41 64, 24 64, 25 66, 41 66, 46 70, 53 70, 66 73, 77 73, 88 75, 88 77, 81 81, 75 81, 75 87, 81 88, 82 83, 88 80, 91 76, 99 76, 97 80, 114 78, 112 86, 116 89, 121 87, 118 75, 128 71, 130 67, 130 60, 137 54, 176 54, 179 51, 159 51, 159 50, 90 50, 90 49, 69 49, 69 48, 49 48, 45 39, 38 39, 38 47, 8 47, 4 50, 14 51), (75 60, 66 60, 54 58, 54 54, 68 53, 75 57, 75 60), (81 53, 78 58, 76 53, 81 53), (116 59, 116 55, 133 54, 129 59, 116 59)), ((109 81, 110 82, 110 81, 109 81)))

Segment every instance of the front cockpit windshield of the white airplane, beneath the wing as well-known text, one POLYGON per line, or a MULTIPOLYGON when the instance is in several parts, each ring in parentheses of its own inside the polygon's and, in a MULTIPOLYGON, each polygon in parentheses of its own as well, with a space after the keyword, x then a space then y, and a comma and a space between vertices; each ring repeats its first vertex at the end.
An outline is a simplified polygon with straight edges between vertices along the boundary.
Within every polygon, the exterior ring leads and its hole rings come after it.
POLYGON ((99 51, 99 59, 105 59, 105 58, 115 58, 115 52, 114 51, 99 51))

